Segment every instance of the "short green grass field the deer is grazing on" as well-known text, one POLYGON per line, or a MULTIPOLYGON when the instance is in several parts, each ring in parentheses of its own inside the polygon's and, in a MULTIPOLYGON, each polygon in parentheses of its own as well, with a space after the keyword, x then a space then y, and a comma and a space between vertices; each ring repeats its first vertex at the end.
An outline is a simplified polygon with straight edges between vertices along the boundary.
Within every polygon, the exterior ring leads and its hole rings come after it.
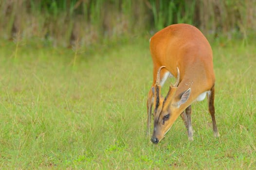
POLYGON ((154 145, 147 39, 94 52, 0 42, 0 169, 256 169, 255 44, 212 46, 220 137, 205 100, 194 141, 179 118, 154 145))

